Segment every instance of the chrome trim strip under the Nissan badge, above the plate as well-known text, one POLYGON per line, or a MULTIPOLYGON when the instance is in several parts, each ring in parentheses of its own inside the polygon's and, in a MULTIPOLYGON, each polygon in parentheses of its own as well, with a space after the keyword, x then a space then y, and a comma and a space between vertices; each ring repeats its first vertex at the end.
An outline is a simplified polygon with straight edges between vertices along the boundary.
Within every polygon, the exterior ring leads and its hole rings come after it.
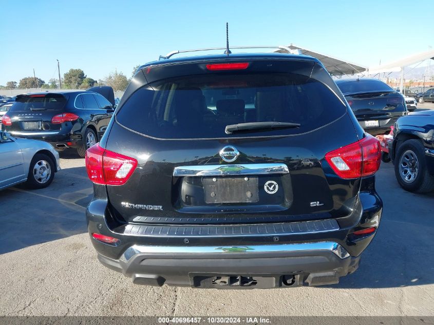
POLYGON ((234 164, 178 166, 175 167, 173 176, 237 176, 288 173, 289 169, 285 164, 234 164))

